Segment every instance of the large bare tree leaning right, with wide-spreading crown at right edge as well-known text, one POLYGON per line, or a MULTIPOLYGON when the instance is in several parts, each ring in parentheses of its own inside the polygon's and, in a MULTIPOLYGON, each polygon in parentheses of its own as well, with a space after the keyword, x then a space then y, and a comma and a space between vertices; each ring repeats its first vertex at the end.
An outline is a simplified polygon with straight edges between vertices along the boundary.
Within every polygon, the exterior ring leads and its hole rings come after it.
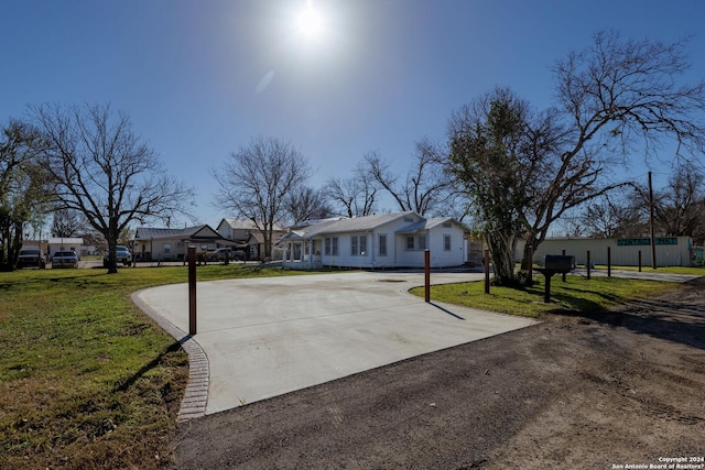
POLYGON ((705 83, 676 81, 688 67, 684 45, 599 32, 590 47, 556 63, 558 106, 544 122, 565 132, 541 173, 544 183, 536 187, 543 197, 527 214, 524 265, 529 249, 535 251, 566 210, 630 185, 615 179, 614 170, 637 149, 655 157, 671 139, 677 142, 676 159, 705 150, 705 83))

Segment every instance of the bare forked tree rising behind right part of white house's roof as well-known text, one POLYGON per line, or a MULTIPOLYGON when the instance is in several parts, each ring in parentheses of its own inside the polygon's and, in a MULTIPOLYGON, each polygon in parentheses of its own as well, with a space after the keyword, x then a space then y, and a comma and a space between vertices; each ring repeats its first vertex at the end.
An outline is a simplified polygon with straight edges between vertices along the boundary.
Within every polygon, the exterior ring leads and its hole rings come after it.
MULTIPOLYGON (((414 210, 422 216, 446 212, 455 192, 443 168, 444 152, 427 139, 416 142, 414 163, 404 179, 395 176, 390 163, 377 152, 365 156, 369 172, 394 199, 400 210, 414 210)), ((444 214, 445 215, 445 214, 444 214)))

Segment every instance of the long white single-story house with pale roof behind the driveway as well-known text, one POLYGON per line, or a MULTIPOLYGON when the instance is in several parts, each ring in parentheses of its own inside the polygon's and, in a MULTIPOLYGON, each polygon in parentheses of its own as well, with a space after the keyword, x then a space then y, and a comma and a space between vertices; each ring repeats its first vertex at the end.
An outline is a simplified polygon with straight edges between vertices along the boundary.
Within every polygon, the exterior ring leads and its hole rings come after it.
POLYGON ((465 263, 465 227, 445 217, 426 219, 414 211, 324 219, 294 227, 282 239, 284 266, 423 267, 465 263))

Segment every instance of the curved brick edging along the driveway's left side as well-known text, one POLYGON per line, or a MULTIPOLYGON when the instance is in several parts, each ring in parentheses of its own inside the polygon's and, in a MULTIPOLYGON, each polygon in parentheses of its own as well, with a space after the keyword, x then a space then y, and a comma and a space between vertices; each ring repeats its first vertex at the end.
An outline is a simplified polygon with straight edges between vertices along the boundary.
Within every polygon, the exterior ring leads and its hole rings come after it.
POLYGON ((132 293, 132 302, 143 313, 156 321, 163 330, 173 336, 188 354, 188 383, 186 384, 176 420, 183 423, 189 419, 200 418, 206 415, 206 405, 208 404, 208 385, 210 383, 208 357, 193 336, 187 335, 181 328, 174 326, 156 310, 142 302, 139 297, 141 292, 142 291, 132 293))

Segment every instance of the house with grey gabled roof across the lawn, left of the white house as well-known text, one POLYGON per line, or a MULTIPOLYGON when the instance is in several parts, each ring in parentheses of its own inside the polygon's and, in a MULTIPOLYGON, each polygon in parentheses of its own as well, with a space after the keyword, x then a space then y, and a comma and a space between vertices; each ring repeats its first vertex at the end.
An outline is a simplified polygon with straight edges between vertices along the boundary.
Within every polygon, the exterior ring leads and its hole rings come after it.
POLYGON ((183 229, 140 227, 134 233, 133 245, 129 248, 137 261, 183 261, 188 247, 196 247, 196 253, 221 247, 240 248, 207 225, 183 229))

